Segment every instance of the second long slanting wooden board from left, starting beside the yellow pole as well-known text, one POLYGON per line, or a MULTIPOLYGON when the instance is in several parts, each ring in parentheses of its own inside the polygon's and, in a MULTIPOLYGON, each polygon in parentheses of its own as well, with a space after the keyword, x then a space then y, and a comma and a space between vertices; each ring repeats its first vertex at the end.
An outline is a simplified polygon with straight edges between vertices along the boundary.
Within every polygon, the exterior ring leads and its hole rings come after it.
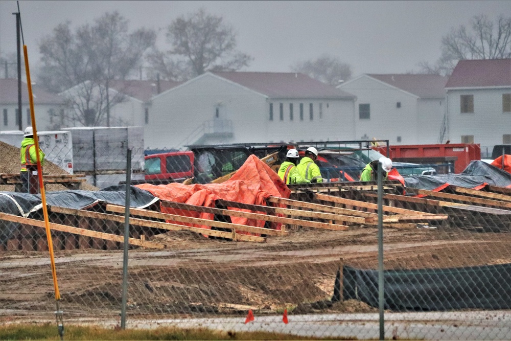
MULTIPOLYGON (((57 207, 57 206, 51 206, 50 209, 52 212, 57 212, 57 213, 72 214, 72 215, 77 215, 77 216, 82 216, 82 217, 96 218, 96 219, 103 219, 103 220, 112 220, 112 221, 124 223, 124 216, 119 216, 119 215, 114 215, 114 214, 68 209, 68 208, 57 207)), ((167 223, 167 222, 130 218, 129 223, 131 225, 145 226, 147 228, 170 230, 170 231, 188 230, 188 231, 192 231, 192 232, 196 232, 196 233, 201 233, 206 236, 214 236, 214 237, 233 239, 233 233, 231 233, 231 232, 194 228, 192 226, 171 224, 171 223, 167 223)), ((237 234, 236 240, 265 242, 266 238, 237 234)))

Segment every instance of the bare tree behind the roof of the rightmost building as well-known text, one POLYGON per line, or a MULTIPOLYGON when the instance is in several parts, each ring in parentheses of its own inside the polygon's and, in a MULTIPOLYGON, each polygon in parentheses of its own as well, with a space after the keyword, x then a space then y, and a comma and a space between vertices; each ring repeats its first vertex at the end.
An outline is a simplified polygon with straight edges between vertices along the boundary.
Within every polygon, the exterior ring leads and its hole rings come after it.
POLYGON ((450 75, 459 60, 511 58, 511 17, 500 15, 496 21, 475 15, 472 32, 463 25, 442 38, 442 55, 434 63, 421 62, 423 73, 450 75))

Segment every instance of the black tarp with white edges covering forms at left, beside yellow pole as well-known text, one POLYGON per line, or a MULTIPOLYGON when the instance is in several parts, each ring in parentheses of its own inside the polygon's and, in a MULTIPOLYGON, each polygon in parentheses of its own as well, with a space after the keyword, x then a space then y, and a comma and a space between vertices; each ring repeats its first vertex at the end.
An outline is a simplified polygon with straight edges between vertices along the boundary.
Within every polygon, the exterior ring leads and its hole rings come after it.
MULTIPOLYGON (((54 191, 46 193, 46 203, 49 206, 59 206, 71 209, 84 209, 100 201, 122 205, 126 204, 126 186, 110 186, 99 191, 54 191)), ((130 207, 143 209, 158 201, 149 192, 130 186, 130 207)), ((0 212, 28 217, 32 212, 42 208, 41 195, 0 192, 0 212)))

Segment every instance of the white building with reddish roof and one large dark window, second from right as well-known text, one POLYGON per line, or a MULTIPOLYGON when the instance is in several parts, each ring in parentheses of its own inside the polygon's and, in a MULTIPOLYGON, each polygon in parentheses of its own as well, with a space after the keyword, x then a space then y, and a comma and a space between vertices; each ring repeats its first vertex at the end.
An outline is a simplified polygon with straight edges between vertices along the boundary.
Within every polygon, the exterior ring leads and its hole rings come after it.
POLYGON ((444 122, 446 81, 438 75, 365 74, 337 88, 357 97, 357 139, 434 144, 444 122))

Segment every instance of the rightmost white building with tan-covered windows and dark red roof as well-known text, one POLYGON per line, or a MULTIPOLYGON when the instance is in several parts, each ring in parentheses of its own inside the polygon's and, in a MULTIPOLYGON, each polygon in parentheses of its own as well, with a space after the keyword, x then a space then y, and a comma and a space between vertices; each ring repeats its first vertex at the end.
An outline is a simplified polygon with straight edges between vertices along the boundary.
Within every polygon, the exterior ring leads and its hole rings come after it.
POLYGON ((511 59, 460 60, 446 91, 451 142, 511 144, 511 59))

